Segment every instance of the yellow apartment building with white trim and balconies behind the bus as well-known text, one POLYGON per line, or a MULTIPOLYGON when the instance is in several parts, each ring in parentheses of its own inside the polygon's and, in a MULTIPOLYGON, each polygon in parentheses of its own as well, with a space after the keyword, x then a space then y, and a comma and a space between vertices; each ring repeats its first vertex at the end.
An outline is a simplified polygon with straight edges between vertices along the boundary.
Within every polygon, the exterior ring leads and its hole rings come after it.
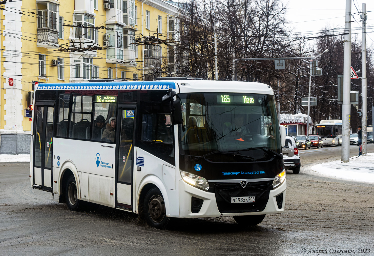
POLYGON ((148 71, 174 67, 170 46, 135 44, 157 38, 156 31, 160 39, 177 37, 180 12, 172 2, 23 0, 1 7, 0 154, 30 153, 25 110, 35 83, 145 80, 148 71))

